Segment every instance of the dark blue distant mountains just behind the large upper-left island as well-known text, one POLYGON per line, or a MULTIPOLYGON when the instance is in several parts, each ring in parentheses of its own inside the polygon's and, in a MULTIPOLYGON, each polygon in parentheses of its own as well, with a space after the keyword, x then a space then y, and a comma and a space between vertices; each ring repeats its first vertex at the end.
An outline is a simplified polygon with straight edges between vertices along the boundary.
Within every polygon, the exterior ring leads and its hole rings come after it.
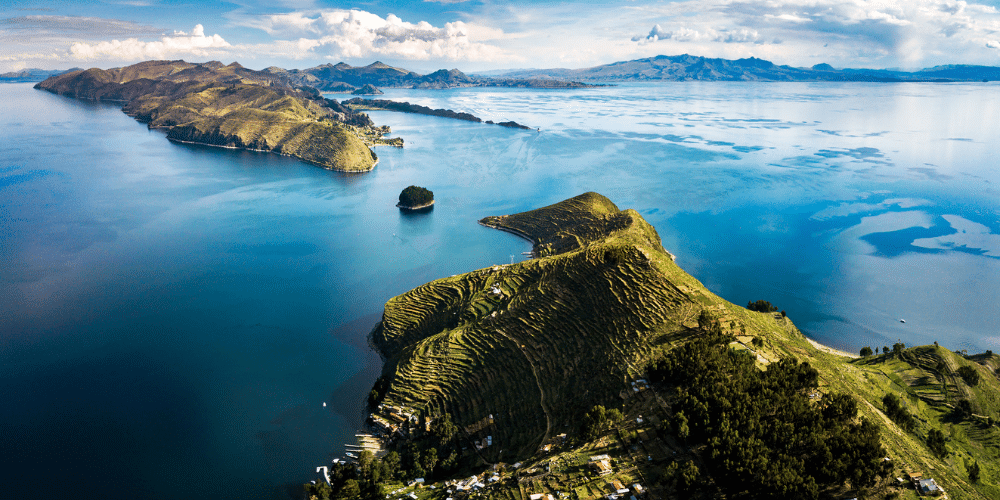
POLYGON ((507 76, 503 78, 473 77, 457 69, 440 69, 427 75, 421 75, 410 70, 389 66, 380 61, 368 66, 351 66, 342 62, 302 70, 287 70, 272 66, 264 71, 281 75, 297 85, 308 85, 327 92, 352 92, 365 85, 418 89, 454 87, 579 88, 590 86, 559 79, 511 78, 507 76))

